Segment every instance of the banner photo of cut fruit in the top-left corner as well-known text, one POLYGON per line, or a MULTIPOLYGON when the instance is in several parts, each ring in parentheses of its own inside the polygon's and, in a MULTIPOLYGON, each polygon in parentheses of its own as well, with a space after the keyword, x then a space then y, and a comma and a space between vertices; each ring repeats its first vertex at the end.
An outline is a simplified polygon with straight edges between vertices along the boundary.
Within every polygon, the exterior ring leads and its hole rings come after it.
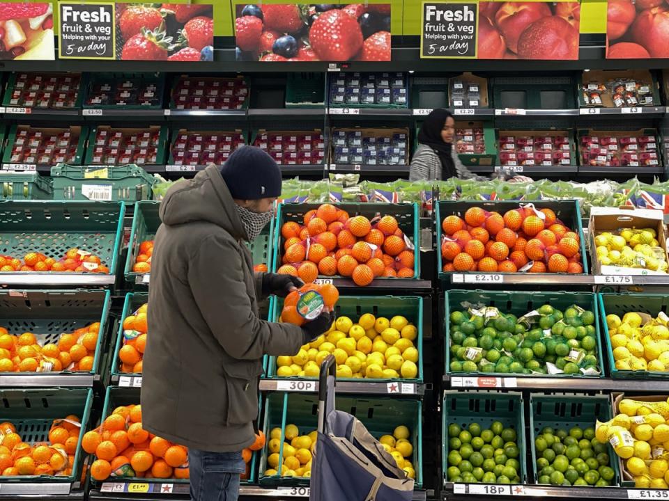
POLYGON ((51 3, 0 3, 0 61, 56 58, 51 3))

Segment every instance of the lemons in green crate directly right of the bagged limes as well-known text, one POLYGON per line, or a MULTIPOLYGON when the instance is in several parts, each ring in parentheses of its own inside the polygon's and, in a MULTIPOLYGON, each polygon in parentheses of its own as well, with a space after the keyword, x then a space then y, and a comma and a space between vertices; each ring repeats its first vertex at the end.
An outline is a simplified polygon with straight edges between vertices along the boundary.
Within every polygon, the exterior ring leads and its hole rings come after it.
POLYGON ((617 315, 606 315, 615 368, 668 372, 668 322, 669 317, 663 312, 655 319, 633 312, 626 313, 622 319, 617 315))

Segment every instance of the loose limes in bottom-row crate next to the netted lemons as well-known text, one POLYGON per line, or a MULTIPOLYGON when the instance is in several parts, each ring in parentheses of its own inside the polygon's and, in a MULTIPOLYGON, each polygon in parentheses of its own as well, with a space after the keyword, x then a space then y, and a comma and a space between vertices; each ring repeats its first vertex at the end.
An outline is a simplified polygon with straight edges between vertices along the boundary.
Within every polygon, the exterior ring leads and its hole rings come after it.
POLYGON ((569 431, 546 427, 535 438, 539 484, 610 486, 615 472, 594 428, 569 431))

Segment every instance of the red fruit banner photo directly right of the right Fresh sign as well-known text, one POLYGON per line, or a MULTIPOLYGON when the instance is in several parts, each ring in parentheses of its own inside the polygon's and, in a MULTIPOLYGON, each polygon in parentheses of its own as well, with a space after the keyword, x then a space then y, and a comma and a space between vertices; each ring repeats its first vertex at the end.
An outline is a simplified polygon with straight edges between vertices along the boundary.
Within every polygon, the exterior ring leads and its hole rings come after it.
POLYGON ((479 2, 479 59, 578 59, 579 2, 479 2))

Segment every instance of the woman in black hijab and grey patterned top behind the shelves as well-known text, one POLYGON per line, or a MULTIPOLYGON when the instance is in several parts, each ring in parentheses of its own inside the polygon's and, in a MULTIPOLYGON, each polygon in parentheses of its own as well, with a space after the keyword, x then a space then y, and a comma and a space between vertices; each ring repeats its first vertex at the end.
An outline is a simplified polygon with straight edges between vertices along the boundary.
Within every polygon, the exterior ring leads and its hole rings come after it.
POLYGON ((418 148, 409 168, 409 180, 447 180, 450 177, 484 181, 471 173, 453 148, 455 119, 445 109, 435 109, 425 117, 418 133, 418 148))

